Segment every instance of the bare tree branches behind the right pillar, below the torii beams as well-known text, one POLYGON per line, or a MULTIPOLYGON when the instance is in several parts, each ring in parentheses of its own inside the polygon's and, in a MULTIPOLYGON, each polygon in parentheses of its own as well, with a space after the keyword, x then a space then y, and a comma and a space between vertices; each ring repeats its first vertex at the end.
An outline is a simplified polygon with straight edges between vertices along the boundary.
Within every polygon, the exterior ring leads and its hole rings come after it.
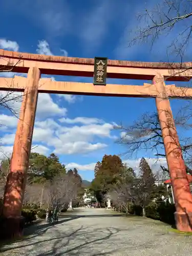
MULTIPOLYGON (((184 131, 191 129, 191 116, 190 104, 181 108, 175 118, 177 128, 181 127, 184 131)), ((137 157, 137 153, 141 150, 151 151, 157 157, 157 160, 166 156, 157 113, 145 113, 133 125, 125 126, 121 123, 119 126, 114 126, 114 129, 120 132, 120 139, 117 143, 127 147, 124 153, 127 157, 137 157)), ((191 138, 180 137, 180 144, 185 162, 190 167, 192 164, 191 138)), ((187 167, 187 170, 192 174, 189 167, 187 167)))

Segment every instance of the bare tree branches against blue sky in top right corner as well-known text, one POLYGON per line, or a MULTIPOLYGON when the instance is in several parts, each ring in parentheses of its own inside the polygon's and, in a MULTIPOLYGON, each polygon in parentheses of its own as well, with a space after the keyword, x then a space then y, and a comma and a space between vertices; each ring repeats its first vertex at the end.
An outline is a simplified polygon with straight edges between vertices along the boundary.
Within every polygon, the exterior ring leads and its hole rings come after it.
POLYGON ((130 45, 148 42, 152 45, 161 36, 174 32, 173 40, 167 45, 169 53, 181 57, 191 42, 192 3, 190 0, 161 0, 153 8, 145 7, 137 18, 139 26, 134 29, 130 45))

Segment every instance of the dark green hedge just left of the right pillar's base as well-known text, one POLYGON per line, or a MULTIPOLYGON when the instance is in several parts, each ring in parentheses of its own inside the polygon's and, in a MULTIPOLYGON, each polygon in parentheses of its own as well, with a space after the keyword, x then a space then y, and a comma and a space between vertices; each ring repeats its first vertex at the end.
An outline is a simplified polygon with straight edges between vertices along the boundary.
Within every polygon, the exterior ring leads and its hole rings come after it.
POLYGON ((145 207, 145 216, 170 225, 175 224, 175 205, 168 202, 152 202, 145 207))

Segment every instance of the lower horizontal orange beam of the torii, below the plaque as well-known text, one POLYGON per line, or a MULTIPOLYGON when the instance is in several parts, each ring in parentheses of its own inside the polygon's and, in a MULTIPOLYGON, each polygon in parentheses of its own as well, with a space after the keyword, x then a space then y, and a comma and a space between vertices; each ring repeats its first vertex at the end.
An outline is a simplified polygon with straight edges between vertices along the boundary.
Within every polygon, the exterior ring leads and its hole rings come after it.
MULTIPOLYGON (((15 76, 14 78, 0 78, 0 90, 24 91, 27 78, 15 76)), ((170 98, 191 98, 192 89, 165 86, 166 94, 170 98)), ((143 86, 122 84, 106 84, 106 86, 94 86, 93 83, 52 81, 50 78, 41 78, 38 85, 39 93, 94 95, 111 97, 151 97, 159 96, 155 85, 144 83, 143 86)))

